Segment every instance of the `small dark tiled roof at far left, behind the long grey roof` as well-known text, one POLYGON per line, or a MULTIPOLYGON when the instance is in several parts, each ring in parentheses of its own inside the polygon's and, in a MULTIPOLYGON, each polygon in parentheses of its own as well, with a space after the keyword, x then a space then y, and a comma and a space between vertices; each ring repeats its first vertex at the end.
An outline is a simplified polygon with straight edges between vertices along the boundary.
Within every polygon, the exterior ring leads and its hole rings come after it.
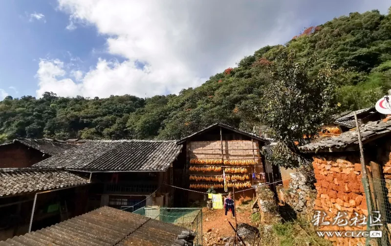
POLYGON ((62 143, 57 140, 53 139, 15 139, 13 143, 22 143, 23 145, 26 145, 28 147, 37 149, 41 151, 42 153, 48 154, 48 155, 56 155, 61 152, 64 152, 65 150, 75 148, 77 146, 67 143, 62 143))

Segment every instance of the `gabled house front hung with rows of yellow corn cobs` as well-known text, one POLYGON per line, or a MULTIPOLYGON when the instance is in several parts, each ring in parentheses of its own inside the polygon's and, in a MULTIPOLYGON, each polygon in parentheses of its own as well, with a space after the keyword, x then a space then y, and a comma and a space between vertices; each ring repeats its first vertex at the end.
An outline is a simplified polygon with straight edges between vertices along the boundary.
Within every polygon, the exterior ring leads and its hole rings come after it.
MULTIPOLYGON (((223 123, 195 132, 177 142, 186 151, 182 184, 202 192, 213 186, 217 192, 224 193, 224 172, 229 191, 235 185, 242 196, 253 197, 252 185, 270 182, 269 174, 278 172, 278 168, 265 165, 262 158, 261 147, 267 143, 269 141, 253 133, 223 123)), ((203 199, 202 194, 196 192, 183 194, 186 195, 190 202, 203 199)))

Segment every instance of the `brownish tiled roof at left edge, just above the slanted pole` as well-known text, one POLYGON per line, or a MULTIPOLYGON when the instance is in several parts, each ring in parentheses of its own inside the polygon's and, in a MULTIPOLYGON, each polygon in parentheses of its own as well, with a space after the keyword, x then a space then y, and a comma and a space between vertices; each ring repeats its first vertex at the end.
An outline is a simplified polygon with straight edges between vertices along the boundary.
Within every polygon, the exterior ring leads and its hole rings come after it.
POLYGON ((87 184, 76 174, 47 168, 0 168, 0 197, 87 184))

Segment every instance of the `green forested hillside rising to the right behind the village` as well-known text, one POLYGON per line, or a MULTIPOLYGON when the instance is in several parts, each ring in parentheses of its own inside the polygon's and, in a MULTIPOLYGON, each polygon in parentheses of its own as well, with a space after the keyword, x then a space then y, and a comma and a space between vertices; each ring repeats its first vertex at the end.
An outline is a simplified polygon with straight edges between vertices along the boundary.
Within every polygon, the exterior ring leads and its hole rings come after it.
MULTIPOLYGON (((260 122, 270 125, 259 115, 269 111, 257 106, 267 109, 273 102, 269 99, 278 97, 277 92, 267 93, 276 88, 284 90, 274 86, 276 71, 280 71, 278 78, 283 81, 281 66, 280 70, 273 68, 282 58, 307 66, 308 80, 304 81, 308 84, 301 84, 300 88, 323 83, 320 79, 323 77, 319 76, 322 69, 324 76, 333 77, 336 87, 326 95, 328 99, 334 98, 329 99, 330 107, 334 106, 332 103, 338 103, 338 110, 372 105, 391 88, 391 13, 381 15, 376 10, 351 13, 308 27, 286 44, 262 47, 243 58, 237 67, 227 68, 201 86, 183 89, 178 95, 89 99, 57 97, 48 92, 40 99, 7 97, 0 102, 0 142, 16 137, 179 139, 216 122, 246 130, 260 122), (327 75, 331 71, 327 67, 334 72, 327 75), (317 76, 318 80, 311 76, 317 76)), ((319 93, 327 88, 320 88, 319 93)), ((300 101, 307 107, 304 110, 316 113, 311 111, 316 105, 304 102, 304 98, 309 100, 311 88, 300 93, 307 93, 300 101)), ((317 89, 312 93, 318 93, 317 89)), ((291 116, 282 111, 274 117, 284 122, 291 116)))

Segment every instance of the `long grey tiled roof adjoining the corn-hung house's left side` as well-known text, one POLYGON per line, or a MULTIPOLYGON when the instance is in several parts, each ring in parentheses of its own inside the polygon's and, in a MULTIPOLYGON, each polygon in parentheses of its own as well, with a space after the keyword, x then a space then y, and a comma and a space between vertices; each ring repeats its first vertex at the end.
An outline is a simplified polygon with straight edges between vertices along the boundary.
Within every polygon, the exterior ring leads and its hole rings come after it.
POLYGON ((87 171, 165 171, 181 149, 175 141, 87 141, 33 166, 87 171))

